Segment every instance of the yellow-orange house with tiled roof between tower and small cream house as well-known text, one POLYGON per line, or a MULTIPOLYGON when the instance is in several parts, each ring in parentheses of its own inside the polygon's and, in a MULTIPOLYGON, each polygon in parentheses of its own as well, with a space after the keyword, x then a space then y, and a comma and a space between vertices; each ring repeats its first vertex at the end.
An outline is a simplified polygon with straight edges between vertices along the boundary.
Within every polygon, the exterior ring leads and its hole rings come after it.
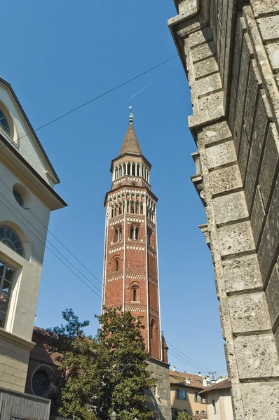
POLYGON ((207 388, 208 377, 200 374, 177 372, 175 367, 170 370, 170 403, 172 419, 175 420, 177 412, 182 411, 191 416, 206 418, 207 408, 205 395, 200 391, 207 388))

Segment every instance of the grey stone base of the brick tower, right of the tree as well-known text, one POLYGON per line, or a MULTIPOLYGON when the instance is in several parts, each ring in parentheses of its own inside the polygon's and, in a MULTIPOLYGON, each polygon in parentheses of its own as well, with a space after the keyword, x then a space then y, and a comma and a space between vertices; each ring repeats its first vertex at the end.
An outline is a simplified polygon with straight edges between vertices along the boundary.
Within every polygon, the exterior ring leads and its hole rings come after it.
POLYGON ((156 379, 153 390, 147 391, 147 406, 154 412, 156 420, 171 420, 170 407, 170 365, 154 358, 149 359, 148 369, 156 379))

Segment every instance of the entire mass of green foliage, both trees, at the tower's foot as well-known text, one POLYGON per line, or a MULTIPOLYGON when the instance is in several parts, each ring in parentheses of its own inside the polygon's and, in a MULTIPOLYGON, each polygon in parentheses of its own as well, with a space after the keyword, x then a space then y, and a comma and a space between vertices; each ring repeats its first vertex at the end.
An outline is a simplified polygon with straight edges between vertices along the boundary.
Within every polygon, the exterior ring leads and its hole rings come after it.
MULTIPOLYGON (((79 321, 72 309, 62 316, 66 325, 50 328, 55 339, 51 351, 59 353, 59 409, 63 416, 76 419, 107 420, 111 412, 118 419, 148 420, 151 410, 145 405, 144 389, 154 385, 147 370, 149 353, 144 351, 139 318, 120 308, 105 309, 96 316, 100 328, 95 339, 87 337, 84 328, 89 321, 79 321)), ((58 388, 58 387, 57 387, 58 388)))

